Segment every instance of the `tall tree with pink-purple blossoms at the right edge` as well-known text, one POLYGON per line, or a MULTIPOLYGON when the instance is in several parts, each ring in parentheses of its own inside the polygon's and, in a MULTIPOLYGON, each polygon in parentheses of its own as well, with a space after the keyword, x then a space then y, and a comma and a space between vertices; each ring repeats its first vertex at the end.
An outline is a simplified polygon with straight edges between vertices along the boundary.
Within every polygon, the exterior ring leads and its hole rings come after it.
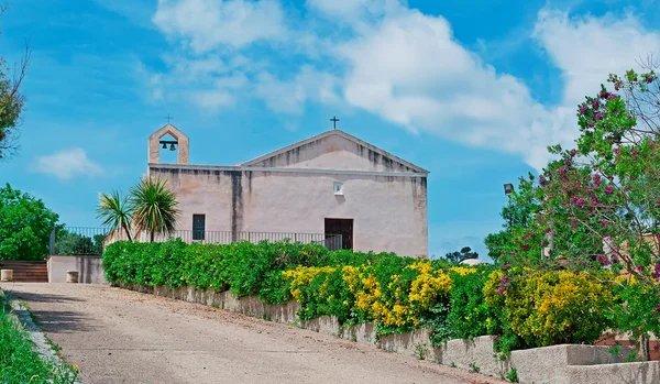
MULTIPOLYGON (((610 75, 609 88, 579 106, 572 149, 550 147, 538 182, 527 177, 516 198, 534 201, 534 219, 514 230, 504 265, 606 268, 623 305, 612 306, 622 331, 639 340, 660 334, 660 80, 646 72, 610 75), (541 253, 539 248, 550 252, 541 253)), ((515 276, 512 276, 512 281, 515 276)))

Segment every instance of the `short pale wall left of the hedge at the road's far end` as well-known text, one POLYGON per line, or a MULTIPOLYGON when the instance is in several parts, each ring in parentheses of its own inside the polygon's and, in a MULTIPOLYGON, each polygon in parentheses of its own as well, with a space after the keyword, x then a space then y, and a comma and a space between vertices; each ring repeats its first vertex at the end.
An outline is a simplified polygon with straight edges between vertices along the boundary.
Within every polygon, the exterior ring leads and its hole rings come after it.
POLYGON ((48 283, 66 283, 67 271, 78 271, 78 283, 108 284, 101 256, 50 256, 48 283))

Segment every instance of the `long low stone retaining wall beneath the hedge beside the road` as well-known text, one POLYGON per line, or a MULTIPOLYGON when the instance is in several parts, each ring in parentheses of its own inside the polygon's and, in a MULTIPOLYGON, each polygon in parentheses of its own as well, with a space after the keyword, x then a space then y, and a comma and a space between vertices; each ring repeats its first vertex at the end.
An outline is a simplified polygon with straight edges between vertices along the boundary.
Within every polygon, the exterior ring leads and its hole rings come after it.
MULTIPOLYGON (((300 305, 297 301, 270 305, 256 297, 239 298, 232 292, 216 293, 212 289, 199 290, 194 287, 169 289, 165 286, 119 286, 272 321, 298 323, 297 312, 300 305)), ((373 323, 342 327, 333 316, 302 321, 298 326, 320 333, 375 344, 392 352, 417 358, 422 355, 443 365, 479 370, 481 373, 498 377, 505 377, 512 369, 516 369, 521 384, 660 383, 660 362, 626 363, 627 355, 634 351, 632 348, 620 348, 622 353, 613 354, 609 347, 563 344, 513 351, 510 358, 503 361, 494 350, 494 336, 482 336, 473 340, 450 340, 440 348, 432 348, 428 329, 388 334, 376 340, 376 327, 373 323)))

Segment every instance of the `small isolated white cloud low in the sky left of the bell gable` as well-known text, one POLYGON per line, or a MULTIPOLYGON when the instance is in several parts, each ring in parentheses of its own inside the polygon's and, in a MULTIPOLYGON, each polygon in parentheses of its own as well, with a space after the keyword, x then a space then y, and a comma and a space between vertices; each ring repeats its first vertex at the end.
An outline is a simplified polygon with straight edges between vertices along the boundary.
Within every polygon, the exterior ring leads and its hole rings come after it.
POLYGON ((31 171, 62 180, 69 180, 78 176, 96 177, 103 174, 101 166, 87 157, 85 150, 79 147, 37 157, 31 171))

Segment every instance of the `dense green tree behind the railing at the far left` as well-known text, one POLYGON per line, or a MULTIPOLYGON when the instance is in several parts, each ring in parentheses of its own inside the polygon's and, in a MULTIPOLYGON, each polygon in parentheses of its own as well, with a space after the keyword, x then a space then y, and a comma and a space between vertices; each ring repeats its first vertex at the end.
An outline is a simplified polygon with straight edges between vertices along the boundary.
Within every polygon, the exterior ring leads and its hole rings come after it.
POLYGON ((51 231, 61 228, 57 213, 41 199, 13 189, 0 189, 0 260, 43 260, 51 231))

